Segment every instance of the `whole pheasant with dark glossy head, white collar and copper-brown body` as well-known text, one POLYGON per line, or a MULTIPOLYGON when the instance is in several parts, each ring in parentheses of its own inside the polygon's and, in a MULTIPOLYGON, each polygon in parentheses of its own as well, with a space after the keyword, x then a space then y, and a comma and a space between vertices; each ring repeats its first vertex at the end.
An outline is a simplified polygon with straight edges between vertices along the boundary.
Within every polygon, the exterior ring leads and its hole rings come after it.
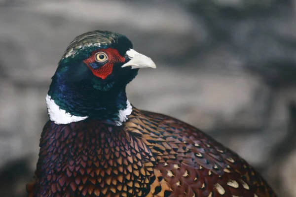
POLYGON ((46 96, 50 120, 28 197, 276 197, 209 135, 131 105, 126 85, 145 67, 156 68, 119 33, 70 43, 46 96))

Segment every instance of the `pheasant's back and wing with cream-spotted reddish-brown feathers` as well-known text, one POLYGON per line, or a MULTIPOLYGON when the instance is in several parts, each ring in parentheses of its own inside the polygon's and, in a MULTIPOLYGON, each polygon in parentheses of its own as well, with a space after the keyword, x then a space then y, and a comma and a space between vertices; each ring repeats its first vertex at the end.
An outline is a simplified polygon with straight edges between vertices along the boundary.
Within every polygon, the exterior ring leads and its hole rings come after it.
POLYGON ((156 187, 168 188, 173 196, 275 196, 251 165, 205 132, 136 108, 129 118, 126 129, 140 136, 157 160, 162 181, 156 187))

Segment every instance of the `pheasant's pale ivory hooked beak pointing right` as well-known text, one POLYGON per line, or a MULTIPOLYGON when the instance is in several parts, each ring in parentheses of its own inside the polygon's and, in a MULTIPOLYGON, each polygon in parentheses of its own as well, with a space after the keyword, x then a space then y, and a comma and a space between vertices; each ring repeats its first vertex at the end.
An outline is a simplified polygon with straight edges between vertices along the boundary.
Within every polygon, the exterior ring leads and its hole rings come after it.
POLYGON ((131 60, 122 65, 121 67, 131 66, 132 69, 145 67, 156 68, 155 63, 151 60, 151 58, 148 58, 147 56, 138 53, 134 49, 128 50, 126 52, 126 55, 131 60))

